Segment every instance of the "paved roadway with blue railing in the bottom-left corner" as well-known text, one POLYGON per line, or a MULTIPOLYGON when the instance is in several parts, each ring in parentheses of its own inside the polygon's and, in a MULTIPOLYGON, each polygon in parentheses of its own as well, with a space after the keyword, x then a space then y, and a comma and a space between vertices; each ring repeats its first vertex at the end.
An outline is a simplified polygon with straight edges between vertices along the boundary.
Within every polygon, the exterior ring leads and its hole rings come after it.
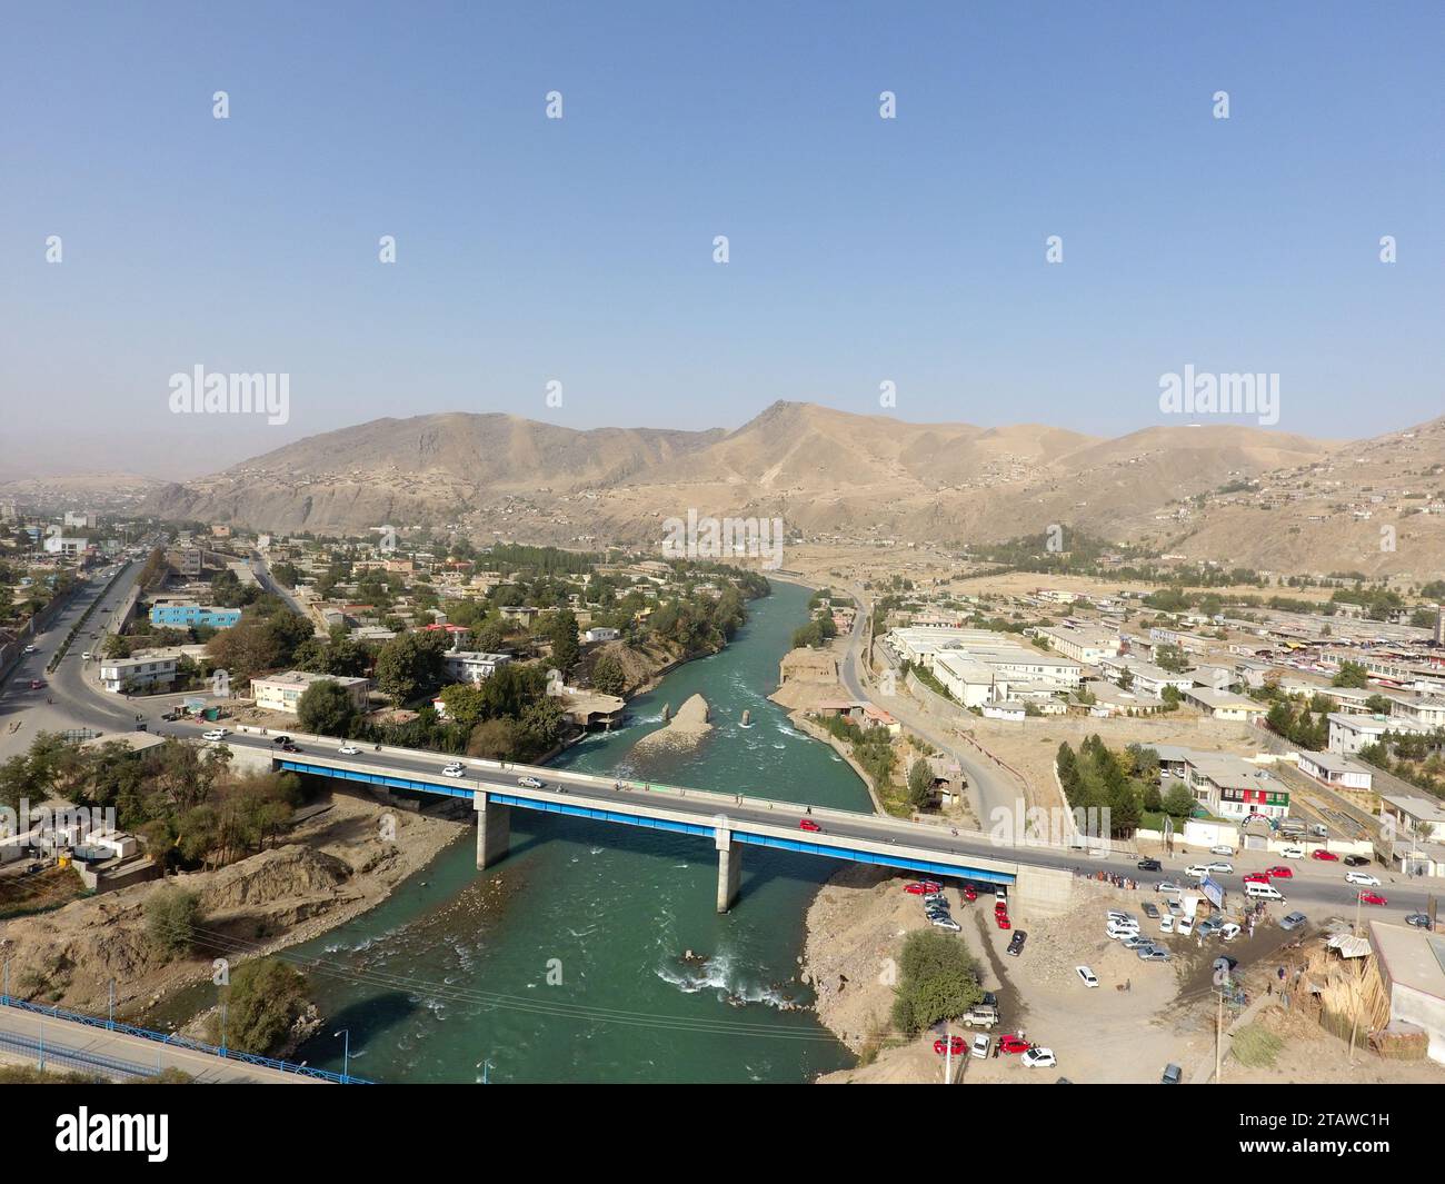
POLYGON ((13 1064, 38 1064, 39 1048, 48 1050, 46 1067, 56 1071, 98 1073, 114 1080, 133 1081, 142 1070, 179 1068, 202 1083, 251 1083, 321 1086, 324 1080, 295 1073, 280 1073, 264 1065, 223 1060, 194 1048, 91 1028, 71 1019, 42 1016, 35 1012, 0 1006, 0 1057, 13 1064), (79 1063, 55 1054, 81 1054, 79 1063), (97 1058, 94 1064, 88 1058, 97 1058))

